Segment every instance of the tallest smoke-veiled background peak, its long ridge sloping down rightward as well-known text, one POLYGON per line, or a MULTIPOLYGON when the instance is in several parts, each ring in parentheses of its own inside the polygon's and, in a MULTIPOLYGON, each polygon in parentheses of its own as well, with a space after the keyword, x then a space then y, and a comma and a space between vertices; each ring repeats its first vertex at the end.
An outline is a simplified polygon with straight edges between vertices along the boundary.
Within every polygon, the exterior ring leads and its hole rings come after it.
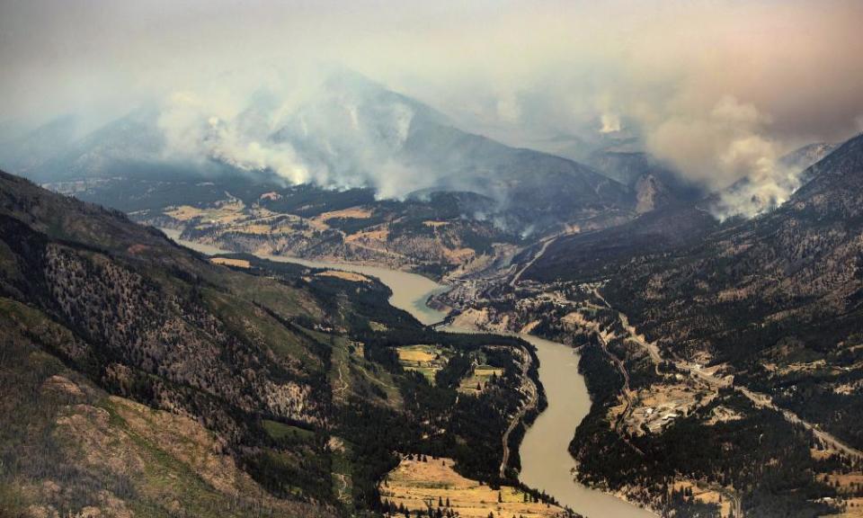
POLYGON ((336 179, 387 192, 475 192, 524 225, 627 210, 625 189, 590 167, 504 146, 455 128, 440 112, 354 74, 331 77, 273 134, 336 179))

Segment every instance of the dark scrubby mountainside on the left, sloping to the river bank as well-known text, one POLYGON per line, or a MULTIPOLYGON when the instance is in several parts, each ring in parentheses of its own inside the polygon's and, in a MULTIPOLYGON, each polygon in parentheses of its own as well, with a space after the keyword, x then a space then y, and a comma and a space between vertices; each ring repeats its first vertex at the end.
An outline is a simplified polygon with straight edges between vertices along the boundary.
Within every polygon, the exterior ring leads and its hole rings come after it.
POLYGON ((517 485, 502 438, 536 382, 529 346, 435 332, 389 295, 361 275, 209 261, 0 173, 0 509, 369 513, 388 509, 378 484, 400 454, 517 485), (430 377, 405 347, 438 351, 430 377), (480 362, 498 375, 475 388, 480 362))

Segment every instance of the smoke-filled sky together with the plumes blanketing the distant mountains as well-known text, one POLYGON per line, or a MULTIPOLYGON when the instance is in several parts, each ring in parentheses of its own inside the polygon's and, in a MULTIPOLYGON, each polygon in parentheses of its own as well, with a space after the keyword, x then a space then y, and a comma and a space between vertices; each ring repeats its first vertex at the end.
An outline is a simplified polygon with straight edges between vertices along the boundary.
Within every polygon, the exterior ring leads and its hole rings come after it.
POLYGON ((492 174, 499 150, 455 128, 611 176, 603 153, 646 153, 672 182, 720 192, 712 210, 726 219, 787 200, 801 181, 782 156, 849 138, 863 115, 863 13, 850 1, 224 2, 206 16, 96 4, 63 16, 50 1, 4 5, 5 168, 40 181, 264 172, 381 199, 446 189, 512 201, 512 174, 492 174))

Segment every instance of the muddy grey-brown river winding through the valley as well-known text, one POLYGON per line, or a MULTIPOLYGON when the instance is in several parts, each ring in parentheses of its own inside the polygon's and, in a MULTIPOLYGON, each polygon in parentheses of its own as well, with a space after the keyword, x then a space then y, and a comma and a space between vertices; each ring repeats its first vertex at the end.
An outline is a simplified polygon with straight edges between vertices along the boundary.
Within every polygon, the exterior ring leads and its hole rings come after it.
MULTIPOLYGON (((202 254, 230 254, 229 251, 214 246, 182 240, 180 232, 176 230, 162 230, 177 243, 202 254)), ((259 256, 281 263, 334 268, 378 277, 393 292, 389 299, 390 304, 405 309, 423 324, 440 322, 446 316, 426 305, 429 297, 446 290, 446 286, 422 275, 363 264, 307 261, 281 255, 259 256)), ((537 417, 521 442, 520 480, 529 487, 544 490, 562 505, 567 505, 588 518, 655 518, 654 514, 645 509, 574 482, 572 470, 575 468, 575 460, 569 454, 569 442, 575 428, 591 408, 591 397, 584 378, 578 372, 578 354, 572 347, 564 344, 549 342, 534 335, 520 336, 537 348, 539 380, 545 388, 548 401, 546 410, 537 417)))

